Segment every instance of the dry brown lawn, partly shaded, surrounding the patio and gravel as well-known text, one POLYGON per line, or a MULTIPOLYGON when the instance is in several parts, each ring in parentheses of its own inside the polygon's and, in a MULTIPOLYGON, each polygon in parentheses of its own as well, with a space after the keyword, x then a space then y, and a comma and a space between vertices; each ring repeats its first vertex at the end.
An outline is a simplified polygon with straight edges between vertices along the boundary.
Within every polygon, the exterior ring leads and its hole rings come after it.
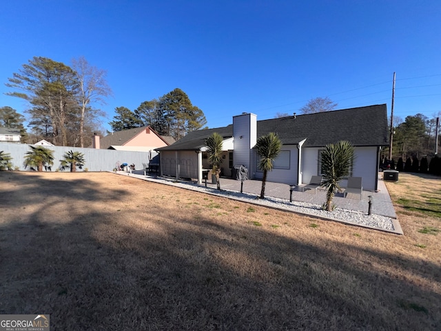
POLYGON ((52 330, 441 330, 441 180, 387 185, 404 236, 105 172, 1 172, 0 314, 50 314, 52 330))

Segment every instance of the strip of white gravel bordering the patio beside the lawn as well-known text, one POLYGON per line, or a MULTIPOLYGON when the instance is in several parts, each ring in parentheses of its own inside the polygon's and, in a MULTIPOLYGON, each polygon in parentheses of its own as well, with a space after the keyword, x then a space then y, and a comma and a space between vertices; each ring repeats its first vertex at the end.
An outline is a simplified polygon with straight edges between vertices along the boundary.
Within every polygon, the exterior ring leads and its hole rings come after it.
POLYGON ((179 188, 185 188, 187 190, 194 190, 198 192, 214 194, 219 197, 227 197, 230 199, 236 199, 239 201, 254 203, 256 205, 265 205, 267 207, 288 210, 291 212, 305 214, 312 217, 320 217, 321 219, 331 219, 333 221, 340 221, 367 228, 376 228, 378 230, 388 230, 388 231, 396 230, 393 227, 393 221, 390 217, 384 217, 378 214, 368 215, 367 213, 362 212, 360 210, 336 208, 332 212, 327 212, 326 210, 322 210, 321 205, 316 205, 314 203, 307 203, 300 201, 289 202, 288 200, 285 199, 277 199, 273 197, 258 199, 258 196, 255 194, 240 193, 232 190, 218 191, 213 188, 205 188, 205 186, 201 186, 196 183, 174 182, 174 181, 167 181, 165 179, 145 178, 145 177, 143 177, 143 179, 147 179, 149 181, 154 181, 157 183, 165 183, 179 188))

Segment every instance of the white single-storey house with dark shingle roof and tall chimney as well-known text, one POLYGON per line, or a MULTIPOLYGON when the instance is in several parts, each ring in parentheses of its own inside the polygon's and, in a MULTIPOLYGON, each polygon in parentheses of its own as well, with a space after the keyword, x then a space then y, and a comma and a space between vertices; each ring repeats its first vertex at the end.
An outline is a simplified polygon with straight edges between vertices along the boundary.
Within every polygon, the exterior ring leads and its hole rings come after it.
POLYGON ((351 175, 362 177, 364 190, 377 190, 380 149, 389 144, 385 104, 263 121, 257 121, 256 114, 243 113, 233 117, 232 125, 189 132, 176 143, 156 149, 161 174, 202 182, 203 170, 209 168, 205 139, 213 132, 224 138, 221 176, 230 177, 234 165, 245 165, 250 179, 263 177, 254 148, 258 137, 276 132, 283 148, 267 181, 295 185, 320 175, 320 152, 327 144, 350 141, 355 147, 351 175))

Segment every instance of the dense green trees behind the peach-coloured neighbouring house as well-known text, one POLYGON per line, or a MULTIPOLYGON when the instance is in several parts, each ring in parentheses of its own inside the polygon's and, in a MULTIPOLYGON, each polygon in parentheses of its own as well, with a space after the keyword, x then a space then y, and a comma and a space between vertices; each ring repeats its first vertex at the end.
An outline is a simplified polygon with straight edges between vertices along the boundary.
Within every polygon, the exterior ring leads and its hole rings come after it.
POLYGON ((193 106, 188 95, 179 88, 158 99, 143 101, 134 111, 118 107, 115 112, 114 121, 109 123, 113 131, 150 126, 158 134, 176 140, 207 123, 203 111, 193 106))

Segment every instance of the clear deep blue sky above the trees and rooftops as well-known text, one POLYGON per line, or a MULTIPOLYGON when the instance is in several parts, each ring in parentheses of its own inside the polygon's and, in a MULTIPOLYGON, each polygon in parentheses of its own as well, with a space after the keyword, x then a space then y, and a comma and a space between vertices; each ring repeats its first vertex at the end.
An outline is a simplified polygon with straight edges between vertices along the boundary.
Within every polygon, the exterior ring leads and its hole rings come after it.
POLYGON ((134 110, 174 88, 207 126, 293 113, 315 97, 338 109, 387 103, 404 119, 441 112, 441 1, 3 1, 0 106, 21 114, 4 83, 32 57, 107 71, 114 108, 134 110))

